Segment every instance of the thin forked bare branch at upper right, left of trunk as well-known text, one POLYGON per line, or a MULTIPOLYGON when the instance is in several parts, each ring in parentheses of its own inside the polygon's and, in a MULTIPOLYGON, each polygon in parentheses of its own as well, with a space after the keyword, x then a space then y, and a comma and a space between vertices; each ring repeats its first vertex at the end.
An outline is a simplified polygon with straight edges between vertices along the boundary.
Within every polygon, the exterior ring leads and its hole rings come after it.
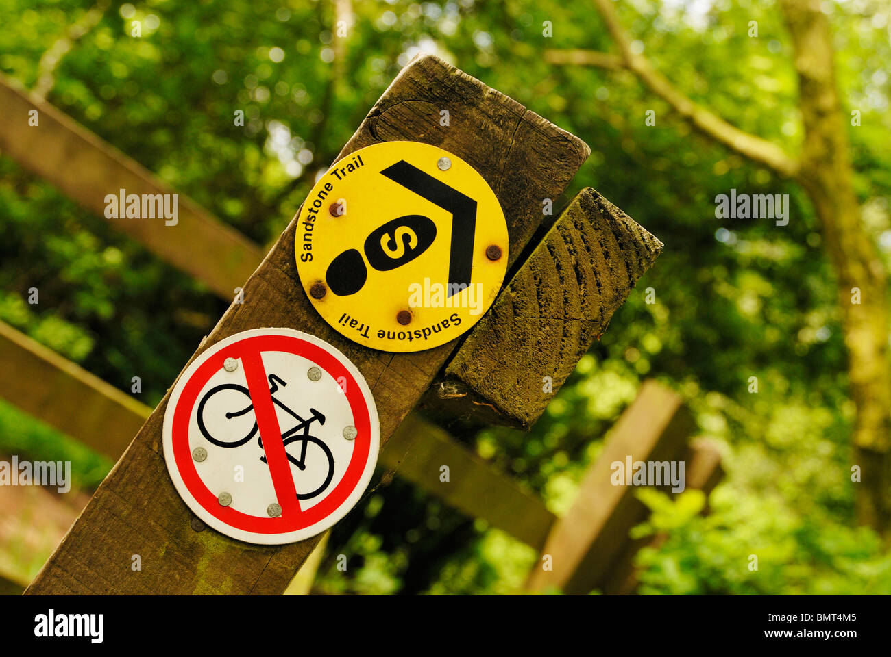
POLYGON ((799 168, 797 158, 789 156, 785 150, 773 142, 732 126, 714 112, 707 110, 677 90, 665 76, 653 68, 647 58, 639 53, 634 53, 631 40, 619 24, 612 1, 593 0, 593 2, 601 13, 609 35, 618 47, 619 56, 596 51, 548 51, 545 53, 545 61, 599 66, 608 69, 628 69, 649 87, 651 92, 666 101, 674 111, 700 133, 754 162, 769 166, 778 174, 789 178, 797 177, 799 168), (621 63, 617 65, 616 61, 621 63))

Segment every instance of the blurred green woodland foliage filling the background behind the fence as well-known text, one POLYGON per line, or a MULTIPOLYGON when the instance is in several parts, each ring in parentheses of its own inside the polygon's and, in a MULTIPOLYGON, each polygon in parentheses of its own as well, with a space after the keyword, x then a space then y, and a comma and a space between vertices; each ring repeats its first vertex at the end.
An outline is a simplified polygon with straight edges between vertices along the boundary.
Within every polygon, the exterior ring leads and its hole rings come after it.
MULTIPOLYGON (((618 9, 674 85, 797 150, 792 46, 774 3, 618 9), (750 20, 758 38, 747 35, 750 20)), ((707 516, 697 491, 674 503, 643 496, 653 515, 638 531, 669 539, 639 555, 642 593, 891 593, 891 554, 854 519, 837 285, 800 188, 692 134, 631 74, 544 61, 546 48, 613 50, 586 2, 357 1, 351 11, 339 39, 335 5, 322 0, 0 0, 0 70, 41 85, 53 105, 259 244, 277 238, 420 50, 577 134, 593 152, 568 194, 593 186, 666 248, 533 431, 488 429, 478 452, 561 513, 609 426, 642 379, 656 377, 689 402, 699 434, 723 445, 727 475, 707 516), (132 20, 141 37, 131 37, 132 20), (48 61, 78 21, 85 27, 69 50, 48 61), (233 126, 234 110, 244 111, 243 127, 233 126), (657 126, 645 126, 647 110, 657 126), (716 219, 715 196, 731 188, 788 193, 789 225, 716 219), (644 302, 645 288, 656 304, 644 302)), ((862 0, 824 11, 842 101, 862 111, 862 126, 849 129, 862 220, 887 266, 891 10, 862 0)), ((0 154, 0 320, 127 393, 142 377, 137 396, 153 406, 224 310, 200 283, 0 154), (31 287, 38 305, 27 303, 31 287)), ((85 490, 112 465, 3 401, 0 451, 71 458, 85 490)), ((532 548, 396 478, 337 526, 315 590, 511 593, 535 561, 532 548), (338 572, 338 554, 355 567, 338 572)))

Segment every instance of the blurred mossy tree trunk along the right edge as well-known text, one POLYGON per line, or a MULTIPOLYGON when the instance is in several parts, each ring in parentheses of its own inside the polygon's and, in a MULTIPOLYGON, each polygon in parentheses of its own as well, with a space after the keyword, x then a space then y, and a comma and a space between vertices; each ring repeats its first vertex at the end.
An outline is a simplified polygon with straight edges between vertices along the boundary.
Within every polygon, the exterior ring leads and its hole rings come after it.
POLYGON ((888 362, 887 272, 863 230, 851 182, 846 113, 839 101, 829 20, 819 0, 782 0, 795 45, 800 109, 805 126, 798 179, 822 224, 823 242, 838 276, 851 397, 856 404, 854 465, 860 466, 857 515, 888 536, 888 448, 891 372, 888 362), (859 289, 859 298, 854 295, 859 289))

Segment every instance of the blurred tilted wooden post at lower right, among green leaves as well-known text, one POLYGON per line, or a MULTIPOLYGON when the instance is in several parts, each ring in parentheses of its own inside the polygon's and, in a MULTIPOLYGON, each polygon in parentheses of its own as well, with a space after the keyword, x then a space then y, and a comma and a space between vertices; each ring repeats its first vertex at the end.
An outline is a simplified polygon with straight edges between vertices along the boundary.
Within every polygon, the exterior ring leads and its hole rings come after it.
POLYGON ((610 482, 611 464, 625 463, 627 457, 632 462, 677 458, 693 426, 680 396, 645 382, 585 474, 576 503, 554 523, 545 541, 542 554, 551 556, 553 570, 545 571, 540 561, 529 573, 527 589, 590 592, 625 545, 628 531, 646 515, 634 486, 610 482))

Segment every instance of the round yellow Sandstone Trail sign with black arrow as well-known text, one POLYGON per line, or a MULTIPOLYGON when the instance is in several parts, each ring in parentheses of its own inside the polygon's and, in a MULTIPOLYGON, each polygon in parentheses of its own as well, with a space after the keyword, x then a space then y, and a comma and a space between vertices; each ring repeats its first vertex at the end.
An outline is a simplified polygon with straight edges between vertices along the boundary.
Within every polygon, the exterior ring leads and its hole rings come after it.
POLYGON ((420 142, 374 144, 331 166, 300 210, 294 247, 324 320, 387 352, 462 335, 495 300, 508 259, 495 192, 420 142))

